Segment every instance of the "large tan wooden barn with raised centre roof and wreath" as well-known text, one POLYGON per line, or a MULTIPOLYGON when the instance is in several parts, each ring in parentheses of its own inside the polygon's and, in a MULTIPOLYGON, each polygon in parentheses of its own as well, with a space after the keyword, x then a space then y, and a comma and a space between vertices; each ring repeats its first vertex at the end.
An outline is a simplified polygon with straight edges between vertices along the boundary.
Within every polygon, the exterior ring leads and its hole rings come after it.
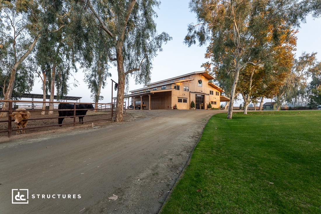
POLYGON ((147 87, 130 91, 132 105, 140 109, 190 109, 194 101, 195 109, 206 109, 208 103, 212 108, 219 108, 221 102, 230 99, 213 83, 215 78, 205 71, 198 71, 182 76, 151 83, 147 87))

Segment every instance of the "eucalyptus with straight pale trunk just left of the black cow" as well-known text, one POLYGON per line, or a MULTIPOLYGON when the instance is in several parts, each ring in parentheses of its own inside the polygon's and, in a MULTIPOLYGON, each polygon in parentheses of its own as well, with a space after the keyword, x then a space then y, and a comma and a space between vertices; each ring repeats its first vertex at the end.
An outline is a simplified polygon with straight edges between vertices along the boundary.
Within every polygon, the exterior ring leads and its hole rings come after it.
MULTIPOLYGON (((68 92, 67 81, 71 70, 75 70, 72 54, 72 43, 68 40, 68 25, 70 22, 70 10, 67 1, 43 1, 44 12, 39 22, 42 24, 38 44, 36 46, 36 59, 47 72, 43 93, 50 92, 49 101, 54 101, 55 85, 57 96, 63 97, 68 92), (47 87, 48 86, 48 87, 47 87), (47 90, 48 89, 48 90, 47 90)), ((43 74, 44 75, 44 74, 43 74)), ((44 79, 43 79, 44 80, 44 79)), ((43 94, 45 97, 46 94, 43 94)), ((43 109, 45 106, 43 105, 43 109)), ((53 103, 49 103, 49 114, 53 114, 53 103)))

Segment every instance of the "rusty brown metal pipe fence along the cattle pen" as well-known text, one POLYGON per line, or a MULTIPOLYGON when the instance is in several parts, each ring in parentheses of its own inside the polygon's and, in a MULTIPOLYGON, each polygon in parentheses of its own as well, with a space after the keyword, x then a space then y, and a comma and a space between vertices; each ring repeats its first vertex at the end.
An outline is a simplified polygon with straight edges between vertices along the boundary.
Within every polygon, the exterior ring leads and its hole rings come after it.
MULTIPOLYGON (((43 102, 43 101, 23 101, 23 100, 0 100, 0 108, 2 108, 2 105, 4 103, 8 102, 9 103, 9 108, 8 110, 0 110, 1 112, 7 112, 7 116, 5 117, 0 117, 0 133, 7 132, 8 137, 11 137, 12 131, 19 131, 19 130, 27 130, 27 129, 41 129, 41 128, 47 128, 47 127, 54 127, 54 126, 65 126, 65 125, 71 125, 75 126, 77 123, 84 123, 84 122, 93 122, 93 121, 99 121, 99 120, 111 120, 112 122, 114 121, 115 118, 115 107, 116 103, 77 103, 77 102, 68 102, 70 104, 92 104, 93 106, 96 106, 95 109, 75 109, 74 108, 69 110, 69 111, 74 111, 73 116, 65 116, 65 117, 42 117, 42 118, 34 118, 32 117, 32 112, 37 112, 37 111, 44 111, 46 112, 54 112, 58 111, 58 105, 59 103, 66 103, 66 102, 43 102), (43 109, 43 103, 45 103, 45 109, 43 109), (49 104, 52 103, 53 107, 51 109, 49 108, 49 104), (52 120, 52 119, 58 119, 58 118, 74 118, 74 122, 69 122, 69 123, 63 123, 63 124, 50 124, 50 125, 44 125, 44 126, 33 126, 33 127, 25 127, 24 129, 13 129, 12 128, 12 118, 9 116, 12 112, 16 111, 18 108, 24 108, 27 111, 30 112, 31 116, 29 119, 26 120, 52 120), (95 114, 86 114, 86 115, 76 115, 76 111, 83 111, 83 110, 94 110, 96 113, 95 114), (99 112, 99 113, 98 113, 99 112), (83 120, 81 122, 76 122, 76 117, 83 117, 86 116, 86 118, 93 118, 91 120, 83 120), (100 116, 99 119, 97 119, 96 116, 100 116), (1 120, 5 119, 7 120, 1 120), (7 125, 3 125, 7 123, 7 125)), ((59 110, 60 111, 60 110, 59 110)), ((68 111, 68 110, 62 110, 62 111, 68 111)), ((124 102, 124 107, 123 111, 126 112, 126 103, 124 102)), ((48 114, 48 113, 47 113, 48 114)), ((34 114, 35 115, 35 114, 34 114)), ((28 123, 29 124, 29 123, 28 123)), ((14 125, 14 123, 13 123, 14 125)))

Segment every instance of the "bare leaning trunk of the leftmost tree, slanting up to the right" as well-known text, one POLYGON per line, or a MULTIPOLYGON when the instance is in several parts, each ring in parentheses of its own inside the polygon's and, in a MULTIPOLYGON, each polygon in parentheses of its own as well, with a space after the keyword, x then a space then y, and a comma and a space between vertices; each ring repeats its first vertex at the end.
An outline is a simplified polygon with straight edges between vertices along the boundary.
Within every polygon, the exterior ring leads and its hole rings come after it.
MULTIPOLYGON (((7 87, 7 91, 5 92, 4 95, 4 100, 10 100, 11 99, 11 95, 13 92, 13 86, 14 86, 14 82, 16 80, 16 74, 17 74, 17 70, 18 67, 21 65, 21 63, 23 62, 23 60, 25 60, 31 50, 33 49, 33 47, 35 46, 36 42, 38 41, 38 39, 40 38, 41 34, 39 34, 31 43, 30 47, 28 48, 28 50, 23 54, 23 56, 13 65, 13 68, 11 69, 11 75, 10 75, 10 79, 9 79, 9 83, 8 83, 8 87, 7 87)), ((2 111, 4 110, 8 110, 9 109, 9 103, 8 102, 4 102, 3 106, 2 106, 2 111)), ((1 112, 0 113, 0 117, 6 117, 8 116, 8 112, 1 112)))

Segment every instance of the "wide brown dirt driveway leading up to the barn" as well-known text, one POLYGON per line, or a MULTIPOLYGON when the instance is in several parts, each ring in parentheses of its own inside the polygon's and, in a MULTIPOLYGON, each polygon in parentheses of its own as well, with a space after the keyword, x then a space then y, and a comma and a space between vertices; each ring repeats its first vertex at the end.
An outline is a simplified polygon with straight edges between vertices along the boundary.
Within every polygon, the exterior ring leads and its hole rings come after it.
POLYGON ((126 122, 0 143, 0 213, 157 213, 218 112, 130 110, 126 122))

